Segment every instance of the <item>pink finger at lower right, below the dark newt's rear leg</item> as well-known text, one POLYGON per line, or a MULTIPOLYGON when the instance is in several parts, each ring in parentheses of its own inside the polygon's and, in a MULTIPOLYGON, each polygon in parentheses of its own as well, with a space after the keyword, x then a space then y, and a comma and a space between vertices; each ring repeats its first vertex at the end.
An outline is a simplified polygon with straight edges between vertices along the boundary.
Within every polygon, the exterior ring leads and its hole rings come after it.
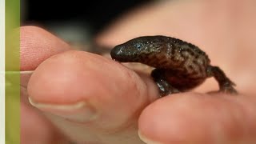
POLYGON ((254 143, 255 98, 173 94, 143 110, 138 128, 146 143, 254 143))

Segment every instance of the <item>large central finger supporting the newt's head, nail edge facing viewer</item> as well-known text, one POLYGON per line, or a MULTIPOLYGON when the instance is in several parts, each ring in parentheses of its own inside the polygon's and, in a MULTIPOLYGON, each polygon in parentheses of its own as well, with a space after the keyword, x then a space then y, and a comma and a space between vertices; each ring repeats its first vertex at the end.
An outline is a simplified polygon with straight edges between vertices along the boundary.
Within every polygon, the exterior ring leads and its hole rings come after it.
POLYGON ((149 77, 118 62, 72 50, 42 62, 28 93, 30 102, 73 141, 141 143, 138 115, 157 98, 158 89, 149 77))

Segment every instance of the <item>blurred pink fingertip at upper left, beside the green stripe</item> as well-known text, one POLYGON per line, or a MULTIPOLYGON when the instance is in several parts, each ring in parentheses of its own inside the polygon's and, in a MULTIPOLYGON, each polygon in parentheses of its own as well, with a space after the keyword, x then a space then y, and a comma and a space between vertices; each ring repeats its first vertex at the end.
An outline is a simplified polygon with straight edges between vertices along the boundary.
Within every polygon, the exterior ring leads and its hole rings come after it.
POLYGON ((20 28, 21 70, 34 70, 46 58, 66 50, 70 50, 66 42, 38 26, 20 28))

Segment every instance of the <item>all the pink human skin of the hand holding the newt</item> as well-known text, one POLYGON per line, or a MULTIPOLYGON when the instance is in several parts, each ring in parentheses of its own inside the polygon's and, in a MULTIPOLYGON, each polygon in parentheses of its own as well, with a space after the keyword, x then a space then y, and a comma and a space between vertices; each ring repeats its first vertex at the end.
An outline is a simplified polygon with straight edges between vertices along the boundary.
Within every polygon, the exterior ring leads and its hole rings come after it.
POLYGON ((192 92, 158 99, 148 74, 22 27, 21 70, 34 70, 22 75, 22 143, 143 143, 138 134, 146 143, 255 143, 254 6, 162 2, 126 14, 96 37, 106 46, 152 34, 191 42, 237 84, 238 96, 206 94, 218 90, 209 79, 192 92))

